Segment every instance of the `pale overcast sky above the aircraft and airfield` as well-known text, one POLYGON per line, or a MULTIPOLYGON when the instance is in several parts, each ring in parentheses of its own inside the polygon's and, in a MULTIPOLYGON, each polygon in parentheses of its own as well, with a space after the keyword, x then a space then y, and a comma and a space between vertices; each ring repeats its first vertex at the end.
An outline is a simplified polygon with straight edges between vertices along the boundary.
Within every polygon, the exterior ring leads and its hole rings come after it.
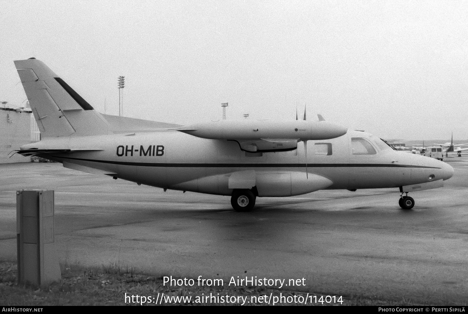
POLYGON ((467 1, 0 0, 0 100, 44 61, 96 110, 179 124, 316 113, 384 138, 468 138, 467 1))

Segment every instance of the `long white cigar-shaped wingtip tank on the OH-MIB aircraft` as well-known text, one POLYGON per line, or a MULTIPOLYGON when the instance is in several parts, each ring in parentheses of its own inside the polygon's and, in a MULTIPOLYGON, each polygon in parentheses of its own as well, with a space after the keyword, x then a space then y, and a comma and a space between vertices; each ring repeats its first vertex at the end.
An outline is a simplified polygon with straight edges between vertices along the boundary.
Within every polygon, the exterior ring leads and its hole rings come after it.
POLYGON ((321 140, 340 137, 348 131, 328 121, 221 120, 176 129, 204 139, 300 139, 321 140))

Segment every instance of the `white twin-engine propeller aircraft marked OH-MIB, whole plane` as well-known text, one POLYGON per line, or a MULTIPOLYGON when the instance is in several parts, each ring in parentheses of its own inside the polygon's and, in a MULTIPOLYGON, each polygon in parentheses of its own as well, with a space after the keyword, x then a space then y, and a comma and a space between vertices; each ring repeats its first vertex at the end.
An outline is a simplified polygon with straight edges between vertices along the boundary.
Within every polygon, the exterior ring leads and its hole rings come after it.
POLYGON ((104 115, 43 62, 15 61, 42 140, 17 153, 59 161, 66 168, 159 188, 231 196, 234 210, 256 197, 322 189, 443 186, 446 163, 398 152, 363 131, 324 121, 216 121, 188 126, 104 115), (303 142, 298 145, 299 142, 303 142))

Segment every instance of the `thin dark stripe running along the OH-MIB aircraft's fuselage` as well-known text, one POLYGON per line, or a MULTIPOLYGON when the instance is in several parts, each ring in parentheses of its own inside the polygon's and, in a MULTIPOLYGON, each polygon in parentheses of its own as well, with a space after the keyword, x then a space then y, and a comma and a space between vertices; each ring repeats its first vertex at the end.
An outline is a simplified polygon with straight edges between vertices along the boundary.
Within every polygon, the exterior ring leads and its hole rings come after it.
MULTIPOLYGON (((95 159, 84 159, 84 158, 71 158, 71 157, 59 157, 51 156, 61 159, 71 159, 79 161, 91 161, 100 163, 109 163, 114 165, 125 165, 125 166, 142 166, 142 167, 180 167, 180 168, 305 168, 305 163, 268 163, 268 164, 255 164, 255 163, 164 163, 164 162, 128 162, 128 161, 104 161, 95 159)), ((429 168, 429 169, 441 169, 439 167, 427 167, 427 166, 413 166, 413 165, 394 165, 394 164, 366 164, 366 163, 316 163, 307 164, 309 168, 356 168, 356 167, 375 167, 375 168, 429 168)))

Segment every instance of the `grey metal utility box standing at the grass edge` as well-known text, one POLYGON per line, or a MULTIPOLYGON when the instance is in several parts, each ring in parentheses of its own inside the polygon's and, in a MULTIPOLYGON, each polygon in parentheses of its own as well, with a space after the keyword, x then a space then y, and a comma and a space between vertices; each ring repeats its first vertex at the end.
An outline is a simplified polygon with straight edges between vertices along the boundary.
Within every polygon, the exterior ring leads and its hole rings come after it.
POLYGON ((18 282, 46 285, 60 280, 54 247, 54 191, 16 191, 18 282))

